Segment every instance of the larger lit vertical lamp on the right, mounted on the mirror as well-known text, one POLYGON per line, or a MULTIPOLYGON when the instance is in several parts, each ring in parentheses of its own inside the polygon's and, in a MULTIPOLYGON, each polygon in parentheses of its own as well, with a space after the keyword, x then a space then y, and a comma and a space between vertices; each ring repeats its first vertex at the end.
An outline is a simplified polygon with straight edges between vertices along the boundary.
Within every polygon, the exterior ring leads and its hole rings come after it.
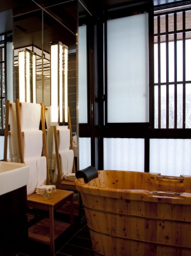
POLYGON ((67 122, 67 59, 66 45, 50 43, 51 125, 67 122))

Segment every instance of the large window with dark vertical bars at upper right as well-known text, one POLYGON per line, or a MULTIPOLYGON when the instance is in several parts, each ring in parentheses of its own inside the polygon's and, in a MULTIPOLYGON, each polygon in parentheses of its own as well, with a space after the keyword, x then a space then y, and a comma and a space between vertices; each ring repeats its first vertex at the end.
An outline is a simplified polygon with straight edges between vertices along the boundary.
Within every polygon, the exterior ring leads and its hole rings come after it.
POLYGON ((155 128, 191 128, 191 9, 154 15, 155 128))

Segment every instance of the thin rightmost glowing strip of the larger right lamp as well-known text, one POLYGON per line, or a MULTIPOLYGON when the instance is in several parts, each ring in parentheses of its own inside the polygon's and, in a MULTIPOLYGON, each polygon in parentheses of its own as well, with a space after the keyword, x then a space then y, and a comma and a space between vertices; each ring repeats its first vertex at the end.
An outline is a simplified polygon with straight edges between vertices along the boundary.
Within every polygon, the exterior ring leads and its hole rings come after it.
POLYGON ((67 71, 68 71, 68 48, 64 45, 64 122, 67 122, 67 106, 68 106, 68 95, 67 95, 67 71))

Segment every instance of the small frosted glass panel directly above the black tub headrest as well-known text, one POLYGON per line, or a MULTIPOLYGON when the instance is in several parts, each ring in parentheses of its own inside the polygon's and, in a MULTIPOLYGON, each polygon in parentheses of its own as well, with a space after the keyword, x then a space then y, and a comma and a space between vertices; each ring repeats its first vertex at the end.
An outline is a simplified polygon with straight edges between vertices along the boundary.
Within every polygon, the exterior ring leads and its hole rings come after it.
POLYGON ((79 166, 84 169, 91 165, 91 139, 79 138, 79 166))

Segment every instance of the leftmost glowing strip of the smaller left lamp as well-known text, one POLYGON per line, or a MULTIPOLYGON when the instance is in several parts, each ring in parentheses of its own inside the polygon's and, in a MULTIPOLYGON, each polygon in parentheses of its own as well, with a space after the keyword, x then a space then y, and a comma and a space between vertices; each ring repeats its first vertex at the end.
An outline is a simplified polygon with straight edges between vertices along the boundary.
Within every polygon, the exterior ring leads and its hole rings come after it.
POLYGON ((25 102, 25 52, 18 52, 19 101, 25 102))

